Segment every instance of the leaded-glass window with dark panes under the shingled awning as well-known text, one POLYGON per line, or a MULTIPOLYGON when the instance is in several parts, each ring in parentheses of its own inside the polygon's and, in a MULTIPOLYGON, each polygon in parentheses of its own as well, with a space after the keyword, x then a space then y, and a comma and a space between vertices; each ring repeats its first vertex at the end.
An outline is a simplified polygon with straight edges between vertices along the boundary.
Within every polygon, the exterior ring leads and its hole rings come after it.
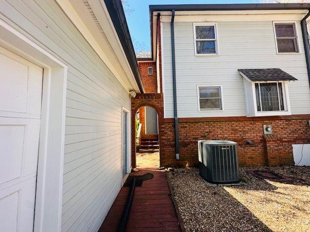
POLYGON ((284 110, 282 83, 255 83, 257 111, 284 110))

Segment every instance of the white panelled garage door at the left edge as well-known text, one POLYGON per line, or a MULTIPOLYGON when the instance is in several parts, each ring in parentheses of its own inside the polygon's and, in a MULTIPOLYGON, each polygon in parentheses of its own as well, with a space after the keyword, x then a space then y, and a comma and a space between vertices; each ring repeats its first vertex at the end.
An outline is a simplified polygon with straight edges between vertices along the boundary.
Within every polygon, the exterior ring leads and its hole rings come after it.
POLYGON ((0 47, 0 231, 33 231, 43 69, 0 47))

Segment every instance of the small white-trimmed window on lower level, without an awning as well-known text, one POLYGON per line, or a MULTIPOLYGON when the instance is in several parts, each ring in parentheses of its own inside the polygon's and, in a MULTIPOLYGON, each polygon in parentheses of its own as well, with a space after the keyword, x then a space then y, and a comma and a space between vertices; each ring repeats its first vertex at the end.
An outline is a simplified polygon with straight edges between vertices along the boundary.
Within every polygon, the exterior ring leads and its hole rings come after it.
POLYGON ((223 110, 221 86, 198 86, 199 110, 223 110))

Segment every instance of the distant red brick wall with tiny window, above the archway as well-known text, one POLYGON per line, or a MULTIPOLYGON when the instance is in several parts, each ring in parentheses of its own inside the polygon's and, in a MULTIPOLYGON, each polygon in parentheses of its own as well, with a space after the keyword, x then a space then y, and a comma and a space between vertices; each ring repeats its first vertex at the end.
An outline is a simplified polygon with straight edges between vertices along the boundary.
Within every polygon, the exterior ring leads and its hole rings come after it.
POLYGON ((145 93, 157 93, 156 62, 139 62, 140 75, 145 93), (153 68, 153 74, 148 75, 148 67, 153 68))

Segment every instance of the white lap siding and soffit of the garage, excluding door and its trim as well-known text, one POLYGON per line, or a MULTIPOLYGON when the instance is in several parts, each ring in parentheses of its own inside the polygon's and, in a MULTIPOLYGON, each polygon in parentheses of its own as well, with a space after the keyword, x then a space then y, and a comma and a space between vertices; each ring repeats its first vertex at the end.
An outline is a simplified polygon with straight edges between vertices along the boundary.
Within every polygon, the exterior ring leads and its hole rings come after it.
POLYGON ((121 187, 130 98, 56 2, 1 1, 0 11, 68 65, 62 231, 97 231, 121 187))

